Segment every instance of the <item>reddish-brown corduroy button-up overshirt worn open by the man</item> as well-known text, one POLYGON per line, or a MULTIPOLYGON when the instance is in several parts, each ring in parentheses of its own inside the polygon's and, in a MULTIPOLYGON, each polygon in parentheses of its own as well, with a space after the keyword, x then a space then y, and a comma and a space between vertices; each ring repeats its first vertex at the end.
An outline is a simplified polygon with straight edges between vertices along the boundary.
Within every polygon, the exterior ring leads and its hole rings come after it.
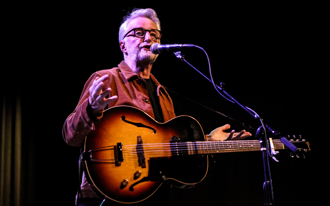
MULTIPOLYGON (((68 145, 82 146, 88 133, 95 129, 94 122, 97 120, 90 119, 87 114, 89 87, 93 84, 96 77, 101 77, 105 74, 108 74, 110 78, 104 82, 103 90, 110 87, 112 89, 110 96, 118 96, 118 100, 108 105, 109 108, 120 105, 133 106, 154 118, 145 79, 135 74, 122 61, 118 67, 95 72, 85 83, 76 109, 68 116, 63 126, 63 138, 68 145)), ((165 88, 160 85, 152 74, 150 74, 150 79, 157 86, 157 94, 163 112, 164 122, 167 122, 175 117, 172 100, 165 91, 165 88)), ((100 118, 102 118, 102 114, 100 118)), ((81 185, 82 197, 97 197, 91 187, 93 186, 88 184, 85 174, 83 174, 81 185)))

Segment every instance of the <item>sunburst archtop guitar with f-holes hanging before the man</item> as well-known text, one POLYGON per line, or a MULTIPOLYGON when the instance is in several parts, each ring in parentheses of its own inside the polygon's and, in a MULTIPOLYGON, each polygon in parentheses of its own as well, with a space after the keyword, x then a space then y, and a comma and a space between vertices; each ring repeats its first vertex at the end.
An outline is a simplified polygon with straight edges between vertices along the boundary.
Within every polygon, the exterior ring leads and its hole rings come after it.
MULTIPOLYGON (((259 140, 205 141, 190 116, 158 123, 131 106, 105 110, 95 127, 82 154, 86 177, 97 194, 119 203, 145 200, 164 182, 194 187, 207 174, 208 154, 261 149, 259 140)), ((285 149, 281 140, 270 141, 285 149)))

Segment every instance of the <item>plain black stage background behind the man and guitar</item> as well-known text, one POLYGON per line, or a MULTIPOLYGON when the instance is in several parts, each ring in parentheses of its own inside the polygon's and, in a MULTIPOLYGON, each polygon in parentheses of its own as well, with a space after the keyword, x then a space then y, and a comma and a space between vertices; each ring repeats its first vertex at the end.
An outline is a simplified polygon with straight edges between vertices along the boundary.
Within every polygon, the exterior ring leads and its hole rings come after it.
MULTIPOLYGON (((162 44, 204 48, 215 83, 266 123, 311 142, 306 159, 285 151, 270 159, 275 205, 329 205, 329 1, 2 0, 1 92, 21 97, 25 204, 74 205, 80 150, 65 144, 62 126, 88 77, 122 60, 118 28, 133 8, 157 12, 162 44)), ((202 50, 182 54, 210 78, 202 50)), ((172 52, 151 73, 175 92, 176 114, 204 133, 259 127, 172 52)), ((263 181, 260 152, 217 154, 195 188, 172 190, 172 204, 263 205, 263 181)))

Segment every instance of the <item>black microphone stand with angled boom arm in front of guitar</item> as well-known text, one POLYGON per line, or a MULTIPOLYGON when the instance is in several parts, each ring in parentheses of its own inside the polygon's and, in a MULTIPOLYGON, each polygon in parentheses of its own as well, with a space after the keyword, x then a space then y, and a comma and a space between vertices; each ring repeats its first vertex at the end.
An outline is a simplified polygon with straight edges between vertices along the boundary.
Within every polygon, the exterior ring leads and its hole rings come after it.
MULTIPOLYGON (((200 48, 205 52, 205 50, 202 47, 199 47, 199 46, 196 46, 196 45, 195 45, 195 47, 200 48)), ((181 51, 174 52, 174 54, 179 60, 184 61, 189 66, 191 66, 193 69, 195 69, 198 73, 202 74, 194 66, 192 66, 189 62, 187 62, 185 60, 184 55, 181 54, 181 51)), ((206 52, 205 52, 205 54, 207 55, 206 52)), ((209 57, 208 57, 208 59, 209 59, 209 57)), ((209 61, 209 67, 210 67, 210 73, 211 73, 210 61, 209 61)), ((271 178, 271 172, 270 172, 270 166, 269 166, 269 159, 268 159, 267 154, 269 156, 271 156, 275 161, 277 161, 276 158, 274 157, 274 155, 278 154, 278 152, 275 152, 275 150, 274 150, 272 139, 271 138, 267 139, 266 132, 270 132, 270 133, 272 133, 272 135, 274 137, 281 139, 281 142, 284 145, 286 145, 290 150, 292 150, 294 153, 298 150, 298 148, 295 145, 293 145, 290 141, 288 141, 285 137, 281 136, 280 132, 274 130, 269 125, 264 124, 263 120, 259 117, 259 115, 257 113, 255 113, 250 108, 242 105, 236 99, 234 99, 231 95, 229 95, 223 88, 224 83, 221 82, 220 86, 217 86, 217 85, 215 85, 213 79, 210 80, 204 74, 202 74, 202 75, 206 79, 208 79, 210 82, 213 83, 213 85, 215 86, 215 89, 217 90, 217 92, 220 95, 222 95, 225 99, 227 99, 228 101, 230 101, 232 103, 238 104, 248 114, 250 114, 252 117, 254 117, 255 119, 258 119, 261 122, 262 126, 260 126, 258 128, 258 130, 256 132, 256 137, 260 138, 259 141, 260 141, 260 144, 261 144, 261 152, 262 152, 262 160, 263 160, 263 169, 264 169, 264 178, 265 178, 265 182, 263 184, 264 204, 265 205, 274 205, 273 185, 272 185, 272 178, 271 178), (269 142, 269 145, 267 144, 267 142, 269 142), (270 148, 271 152, 269 152, 270 151, 269 147, 271 147, 270 148)), ((212 78, 212 75, 211 75, 211 78, 212 78)))

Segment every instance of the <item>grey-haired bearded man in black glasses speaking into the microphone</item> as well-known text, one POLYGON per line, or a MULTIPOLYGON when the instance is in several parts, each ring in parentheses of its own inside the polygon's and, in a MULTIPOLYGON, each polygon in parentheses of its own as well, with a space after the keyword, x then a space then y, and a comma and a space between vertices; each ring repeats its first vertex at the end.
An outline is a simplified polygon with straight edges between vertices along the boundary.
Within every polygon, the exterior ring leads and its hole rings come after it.
MULTIPOLYGON (((104 109, 113 106, 136 107, 158 122, 167 122, 175 117, 171 98, 150 73, 158 56, 150 51, 150 46, 160 43, 160 38, 160 21, 154 10, 135 9, 124 17, 119 28, 119 45, 124 61, 116 68, 92 74, 87 80, 75 111, 68 116, 63 127, 63 137, 67 144, 82 146, 89 132, 95 130, 94 124, 102 118, 104 109)), ((239 140, 251 136, 244 130, 239 133, 234 130, 224 132, 229 128, 229 125, 219 127, 207 135, 206 139, 239 140)), ((77 205, 99 205, 102 202, 92 187, 83 173, 77 205)), ((163 196, 166 198, 165 194, 163 196)), ((157 205, 160 202, 164 203, 159 201, 151 204, 157 205)))

